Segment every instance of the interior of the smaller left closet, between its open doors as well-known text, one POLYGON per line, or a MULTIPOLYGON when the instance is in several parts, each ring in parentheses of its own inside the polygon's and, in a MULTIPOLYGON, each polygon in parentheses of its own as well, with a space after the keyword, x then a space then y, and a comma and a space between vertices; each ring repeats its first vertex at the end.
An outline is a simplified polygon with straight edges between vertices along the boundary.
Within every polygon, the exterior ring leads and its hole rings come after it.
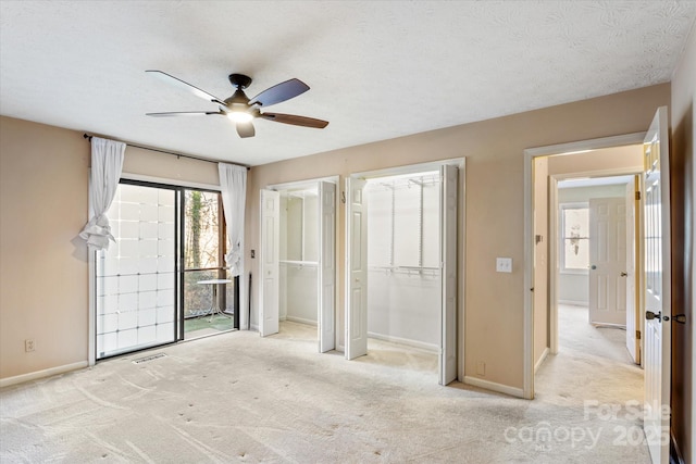
POLYGON ((278 316, 316 325, 319 197, 316 187, 281 190, 278 316))

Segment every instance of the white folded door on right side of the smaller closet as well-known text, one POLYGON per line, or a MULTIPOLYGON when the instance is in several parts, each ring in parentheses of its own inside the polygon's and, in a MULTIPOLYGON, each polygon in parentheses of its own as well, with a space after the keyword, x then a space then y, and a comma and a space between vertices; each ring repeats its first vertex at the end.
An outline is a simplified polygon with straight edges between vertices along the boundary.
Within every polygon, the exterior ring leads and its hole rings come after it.
POLYGON ((319 351, 336 348, 336 186, 319 183, 319 351))

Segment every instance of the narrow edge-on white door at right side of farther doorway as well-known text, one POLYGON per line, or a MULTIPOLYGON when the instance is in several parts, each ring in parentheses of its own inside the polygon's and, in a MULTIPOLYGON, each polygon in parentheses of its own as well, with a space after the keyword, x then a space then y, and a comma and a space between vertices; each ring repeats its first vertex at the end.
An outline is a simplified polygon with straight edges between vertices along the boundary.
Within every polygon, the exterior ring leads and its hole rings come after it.
POLYGON ((633 362, 641 364, 641 321, 637 318, 636 305, 636 180, 626 184, 626 349, 633 362))

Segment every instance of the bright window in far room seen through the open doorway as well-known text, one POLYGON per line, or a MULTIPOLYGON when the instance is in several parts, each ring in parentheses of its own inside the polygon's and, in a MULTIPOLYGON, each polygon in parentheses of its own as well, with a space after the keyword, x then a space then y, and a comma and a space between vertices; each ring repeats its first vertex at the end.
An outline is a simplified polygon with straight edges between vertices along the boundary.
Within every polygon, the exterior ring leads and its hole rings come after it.
POLYGON ((589 205, 561 204, 561 272, 586 273, 589 267, 589 205))

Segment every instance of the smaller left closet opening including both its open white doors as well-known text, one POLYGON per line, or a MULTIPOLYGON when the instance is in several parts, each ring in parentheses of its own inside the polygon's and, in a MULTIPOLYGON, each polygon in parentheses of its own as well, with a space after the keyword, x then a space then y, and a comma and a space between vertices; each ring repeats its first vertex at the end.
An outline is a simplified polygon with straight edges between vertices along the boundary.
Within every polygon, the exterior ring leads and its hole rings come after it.
POLYGON ((261 190, 259 333, 279 321, 316 326, 319 351, 336 348, 336 179, 261 190))

